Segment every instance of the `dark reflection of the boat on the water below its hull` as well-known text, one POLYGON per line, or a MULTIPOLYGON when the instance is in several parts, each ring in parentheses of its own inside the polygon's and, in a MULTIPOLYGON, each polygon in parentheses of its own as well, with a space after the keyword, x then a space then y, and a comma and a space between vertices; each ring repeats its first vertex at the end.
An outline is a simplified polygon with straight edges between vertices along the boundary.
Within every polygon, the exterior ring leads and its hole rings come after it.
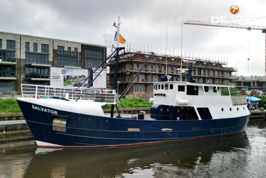
POLYGON ((237 177, 230 174, 234 170, 239 176, 245 173, 251 147, 246 132, 242 132, 171 145, 46 153, 38 149, 25 171, 26 178, 237 177))

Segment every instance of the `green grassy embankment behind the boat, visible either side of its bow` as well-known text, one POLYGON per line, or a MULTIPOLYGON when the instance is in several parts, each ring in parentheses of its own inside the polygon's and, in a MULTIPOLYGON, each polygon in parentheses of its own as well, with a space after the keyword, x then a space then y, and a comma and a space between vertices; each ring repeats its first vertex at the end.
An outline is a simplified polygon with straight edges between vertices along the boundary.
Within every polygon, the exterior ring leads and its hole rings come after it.
MULTIPOLYGON (((138 98, 122 98, 120 100, 122 108, 140 108, 150 107, 152 103, 149 103, 143 99, 138 98)), ((103 109, 111 108, 110 104, 102 106, 103 109)), ((21 110, 15 99, 0 99, 0 113, 20 113, 21 110)))

